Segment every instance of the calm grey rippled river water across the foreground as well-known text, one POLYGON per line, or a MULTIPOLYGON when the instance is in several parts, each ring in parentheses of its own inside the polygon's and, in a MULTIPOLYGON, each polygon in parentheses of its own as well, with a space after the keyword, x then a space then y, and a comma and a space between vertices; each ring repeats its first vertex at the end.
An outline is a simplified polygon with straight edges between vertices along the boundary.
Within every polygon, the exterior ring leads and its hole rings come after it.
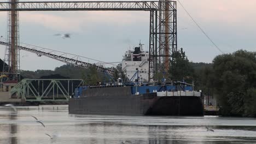
POLYGON ((0 107, 1 144, 256 143, 253 118, 69 115, 67 105, 17 109, 14 113, 10 107, 0 107))

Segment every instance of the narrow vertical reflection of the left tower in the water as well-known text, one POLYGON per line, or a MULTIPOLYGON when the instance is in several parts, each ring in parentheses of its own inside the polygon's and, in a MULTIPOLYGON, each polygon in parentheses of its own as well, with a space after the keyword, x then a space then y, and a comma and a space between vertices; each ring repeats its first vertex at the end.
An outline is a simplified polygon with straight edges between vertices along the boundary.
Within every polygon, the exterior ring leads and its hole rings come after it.
MULTIPOLYGON (((15 120, 17 119, 17 113, 10 112, 9 113, 9 120, 15 120)), ((10 131, 10 144, 18 144, 18 137, 17 137, 17 132, 18 132, 18 126, 17 124, 10 123, 9 124, 9 131, 10 131)))

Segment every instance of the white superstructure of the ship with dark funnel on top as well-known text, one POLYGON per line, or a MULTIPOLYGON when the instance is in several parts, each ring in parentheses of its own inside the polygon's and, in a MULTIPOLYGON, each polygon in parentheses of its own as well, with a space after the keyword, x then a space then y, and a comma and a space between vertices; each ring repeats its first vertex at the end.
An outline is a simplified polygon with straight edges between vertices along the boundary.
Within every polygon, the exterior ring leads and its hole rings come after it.
MULTIPOLYGON (((143 51, 142 44, 139 43, 139 47, 135 47, 133 50, 125 52, 122 61, 122 70, 126 77, 131 80, 138 70, 138 81, 148 82, 148 68, 149 68, 149 52, 143 51)), ((132 81, 137 79, 137 75, 132 81)))

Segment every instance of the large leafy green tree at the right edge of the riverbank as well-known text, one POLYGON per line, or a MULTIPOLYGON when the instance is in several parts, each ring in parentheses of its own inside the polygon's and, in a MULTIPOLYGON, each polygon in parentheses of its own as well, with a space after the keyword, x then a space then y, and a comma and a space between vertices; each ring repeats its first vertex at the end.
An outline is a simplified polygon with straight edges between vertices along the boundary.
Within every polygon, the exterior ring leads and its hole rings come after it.
POLYGON ((219 55, 213 60, 213 87, 223 115, 252 116, 256 88, 256 53, 244 50, 219 55), (248 99, 250 101, 248 101, 248 99))

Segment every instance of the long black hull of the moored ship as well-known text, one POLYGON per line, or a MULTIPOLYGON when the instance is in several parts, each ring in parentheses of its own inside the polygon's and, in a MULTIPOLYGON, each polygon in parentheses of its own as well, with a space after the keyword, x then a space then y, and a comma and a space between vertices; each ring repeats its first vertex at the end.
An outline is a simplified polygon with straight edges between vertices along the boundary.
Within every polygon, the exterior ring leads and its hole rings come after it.
POLYGON ((200 97, 131 94, 129 87, 95 88, 69 99, 69 113, 85 115, 202 116, 200 97), (114 91, 113 91, 114 89, 114 91))

